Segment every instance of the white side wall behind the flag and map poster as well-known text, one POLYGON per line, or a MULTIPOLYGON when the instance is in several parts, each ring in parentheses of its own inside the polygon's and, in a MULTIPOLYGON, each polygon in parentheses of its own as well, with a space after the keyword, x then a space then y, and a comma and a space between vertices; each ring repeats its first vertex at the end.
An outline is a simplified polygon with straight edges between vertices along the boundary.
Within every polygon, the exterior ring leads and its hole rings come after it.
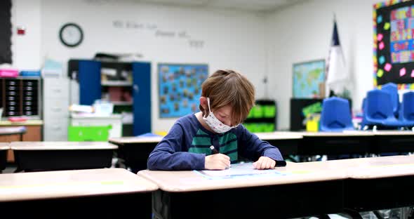
POLYGON ((336 15, 345 62, 353 77, 354 110, 373 88, 373 4, 378 0, 309 0, 266 18, 269 95, 279 105, 278 128, 289 128, 292 65, 328 56, 336 15))

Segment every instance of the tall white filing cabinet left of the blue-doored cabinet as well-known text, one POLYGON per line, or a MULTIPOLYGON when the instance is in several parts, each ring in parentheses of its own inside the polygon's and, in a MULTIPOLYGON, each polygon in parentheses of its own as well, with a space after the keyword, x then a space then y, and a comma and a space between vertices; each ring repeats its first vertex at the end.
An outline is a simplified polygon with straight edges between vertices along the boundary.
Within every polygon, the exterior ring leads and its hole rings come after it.
POLYGON ((69 79, 44 78, 44 140, 67 141, 69 79))

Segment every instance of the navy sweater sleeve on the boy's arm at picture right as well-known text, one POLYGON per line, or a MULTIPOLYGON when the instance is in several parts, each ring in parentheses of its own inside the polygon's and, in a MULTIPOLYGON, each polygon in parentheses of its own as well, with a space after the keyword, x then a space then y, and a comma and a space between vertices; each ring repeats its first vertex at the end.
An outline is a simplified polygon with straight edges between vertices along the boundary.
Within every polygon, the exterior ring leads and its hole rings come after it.
POLYGON ((239 131, 241 141, 240 150, 241 156, 257 161, 260 157, 269 157, 276 161, 276 166, 286 166, 279 149, 270 145, 269 142, 260 140, 257 135, 249 132, 244 126, 241 126, 239 131))

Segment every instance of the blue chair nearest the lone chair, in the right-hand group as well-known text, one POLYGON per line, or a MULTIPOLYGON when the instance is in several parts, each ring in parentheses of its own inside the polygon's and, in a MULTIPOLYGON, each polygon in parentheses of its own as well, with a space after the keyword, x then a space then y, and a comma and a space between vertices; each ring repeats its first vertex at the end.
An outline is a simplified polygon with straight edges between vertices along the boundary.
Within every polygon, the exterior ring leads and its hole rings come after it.
POLYGON ((399 128, 409 126, 395 118, 392 110, 391 95, 387 91, 373 90, 366 95, 366 106, 363 112, 363 123, 373 126, 399 128))

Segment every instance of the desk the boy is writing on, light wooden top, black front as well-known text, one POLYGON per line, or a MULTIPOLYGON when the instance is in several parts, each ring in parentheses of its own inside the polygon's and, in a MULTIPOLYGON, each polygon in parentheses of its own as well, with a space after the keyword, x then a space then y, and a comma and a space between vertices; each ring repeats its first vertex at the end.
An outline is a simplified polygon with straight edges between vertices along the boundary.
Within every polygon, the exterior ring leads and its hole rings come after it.
POLYGON ((345 172, 308 167, 288 162, 276 168, 286 175, 220 180, 195 171, 138 175, 161 189, 153 193, 154 214, 161 218, 294 218, 342 211, 345 172))

